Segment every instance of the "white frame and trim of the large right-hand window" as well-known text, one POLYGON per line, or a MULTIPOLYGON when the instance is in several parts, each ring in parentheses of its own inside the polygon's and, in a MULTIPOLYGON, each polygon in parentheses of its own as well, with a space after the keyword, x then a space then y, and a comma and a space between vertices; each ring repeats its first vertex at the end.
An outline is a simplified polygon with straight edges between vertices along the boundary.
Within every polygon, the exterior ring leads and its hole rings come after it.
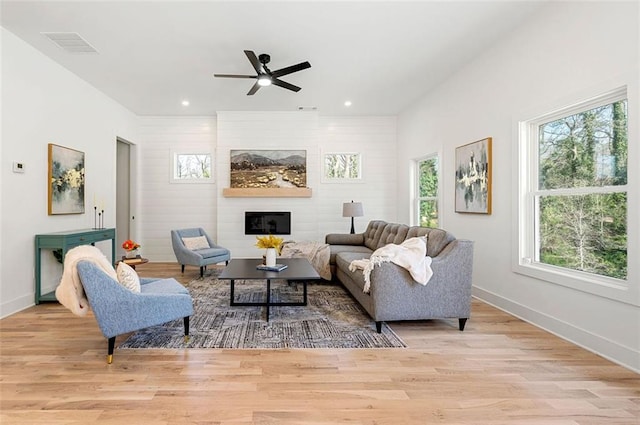
MULTIPOLYGON (((627 175, 627 184, 620 186, 586 187, 572 189, 539 189, 539 143, 538 127, 546 122, 561 119, 576 113, 584 112, 598 106, 607 105, 618 100, 627 99, 627 127, 629 139, 632 138, 632 113, 629 112, 633 105, 630 99, 630 91, 626 86, 605 92, 604 94, 582 97, 583 100, 576 100, 566 103, 564 107, 548 108, 551 112, 533 115, 533 118, 516 121, 516 140, 518 148, 514 155, 514 172, 517 178, 514 179, 515 192, 515 224, 514 224, 514 250, 512 260, 512 271, 529 277, 540 279, 546 282, 562 285, 572 289, 602 296, 605 298, 640 305, 640 299, 636 295, 629 295, 629 292, 637 292, 637 284, 631 285, 636 270, 630 261, 634 255, 633 226, 635 222, 629 214, 631 210, 631 182, 632 176, 627 175), (584 100, 586 99, 586 100, 584 100), (536 205, 541 194, 567 195, 567 194, 593 194, 593 193, 621 193, 627 194, 627 278, 617 279, 592 273, 582 272, 569 268, 544 264, 535 261, 537 249, 539 247, 539 235, 536 205)), ((629 146, 631 143, 629 143, 629 146)), ((630 149, 629 149, 630 150, 630 149)), ((632 156, 628 153, 629 162, 632 156)))

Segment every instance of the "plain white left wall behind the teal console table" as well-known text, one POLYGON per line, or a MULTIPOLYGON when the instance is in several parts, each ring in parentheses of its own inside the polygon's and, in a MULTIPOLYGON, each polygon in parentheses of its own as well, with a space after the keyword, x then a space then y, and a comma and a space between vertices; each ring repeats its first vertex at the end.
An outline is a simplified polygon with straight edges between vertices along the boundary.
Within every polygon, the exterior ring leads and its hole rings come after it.
MULTIPOLYGON (((60 65, 1 29, 2 171, 0 184, 0 317, 34 303, 34 236, 93 227, 93 196, 104 199, 115 226, 116 137, 136 140, 136 117, 60 65), (84 214, 47 215, 48 143, 85 153, 84 214), (25 172, 12 172, 12 162, 25 172)), ((111 255, 110 243, 99 243, 111 255)), ((43 289, 61 267, 43 254, 43 289)))

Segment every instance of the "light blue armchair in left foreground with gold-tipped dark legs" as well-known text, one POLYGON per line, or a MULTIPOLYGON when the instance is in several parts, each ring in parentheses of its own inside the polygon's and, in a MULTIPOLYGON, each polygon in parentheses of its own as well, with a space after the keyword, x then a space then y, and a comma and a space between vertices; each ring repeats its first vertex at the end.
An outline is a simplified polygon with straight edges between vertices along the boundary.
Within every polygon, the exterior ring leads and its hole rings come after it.
POLYGON ((193 301, 175 279, 140 279, 140 293, 109 277, 91 261, 77 263, 78 276, 102 334, 108 339, 107 363, 113 361, 116 336, 184 319, 185 340, 193 301))

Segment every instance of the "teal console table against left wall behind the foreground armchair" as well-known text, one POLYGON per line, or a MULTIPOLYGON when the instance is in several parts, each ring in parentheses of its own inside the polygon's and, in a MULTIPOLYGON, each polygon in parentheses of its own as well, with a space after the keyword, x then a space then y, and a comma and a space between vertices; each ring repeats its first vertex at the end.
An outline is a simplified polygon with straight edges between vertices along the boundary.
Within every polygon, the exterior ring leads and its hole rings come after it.
POLYGON ((43 249, 62 249, 62 261, 71 248, 78 245, 95 245, 96 242, 111 240, 111 264, 116 262, 116 229, 83 229, 66 232, 45 233, 36 235, 36 304, 44 301, 56 301, 55 292, 41 293, 43 249))

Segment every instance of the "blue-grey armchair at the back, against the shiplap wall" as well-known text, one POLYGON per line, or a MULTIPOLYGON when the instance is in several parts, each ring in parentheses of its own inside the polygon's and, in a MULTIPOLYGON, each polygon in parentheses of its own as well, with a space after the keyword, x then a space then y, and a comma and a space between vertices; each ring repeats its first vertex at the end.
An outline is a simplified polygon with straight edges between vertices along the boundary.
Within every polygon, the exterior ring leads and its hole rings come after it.
POLYGON ((218 264, 223 261, 225 264, 229 264, 231 259, 231 252, 217 245, 201 227, 172 230, 171 245, 178 263, 182 266, 182 273, 184 273, 184 266, 188 264, 200 267, 200 277, 202 277, 209 264, 218 264), (207 239, 209 248, 191 250, 185 246, 183 238, 196 238, 199 236, 204 236, 207 239))

